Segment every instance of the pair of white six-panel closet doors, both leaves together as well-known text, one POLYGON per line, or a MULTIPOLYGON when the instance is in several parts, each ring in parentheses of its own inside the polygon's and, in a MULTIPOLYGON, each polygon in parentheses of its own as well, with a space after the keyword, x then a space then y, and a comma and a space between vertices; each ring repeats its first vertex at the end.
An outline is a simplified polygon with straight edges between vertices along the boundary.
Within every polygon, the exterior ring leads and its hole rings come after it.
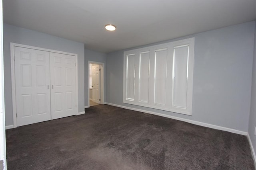
POLYGON ((17 126, 76 114, 75 57, 14 47, 17 126))

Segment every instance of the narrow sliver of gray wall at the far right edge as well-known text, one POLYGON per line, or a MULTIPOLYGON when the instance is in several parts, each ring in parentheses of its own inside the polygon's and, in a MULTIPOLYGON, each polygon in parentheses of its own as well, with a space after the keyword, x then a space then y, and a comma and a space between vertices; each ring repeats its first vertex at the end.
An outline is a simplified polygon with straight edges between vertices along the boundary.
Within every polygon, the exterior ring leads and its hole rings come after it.
POLYGON ((256 136, 254 136, 254 126, 256 126, 256 25, 254 31, 254 59, 252 69, 252 94, 251 94, 251 109, 249 118, 248 133, 252 141, 254 151, 256 149, 256 136))

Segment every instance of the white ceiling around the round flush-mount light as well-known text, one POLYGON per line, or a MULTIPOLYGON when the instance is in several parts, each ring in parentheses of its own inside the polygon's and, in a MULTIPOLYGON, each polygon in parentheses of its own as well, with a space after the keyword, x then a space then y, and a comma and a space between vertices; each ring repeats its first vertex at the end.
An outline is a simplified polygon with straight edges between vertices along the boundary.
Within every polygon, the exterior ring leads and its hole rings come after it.
POLYGON ((3 17, 107 53, 255 20, 256 0, 3 0, 3 17))

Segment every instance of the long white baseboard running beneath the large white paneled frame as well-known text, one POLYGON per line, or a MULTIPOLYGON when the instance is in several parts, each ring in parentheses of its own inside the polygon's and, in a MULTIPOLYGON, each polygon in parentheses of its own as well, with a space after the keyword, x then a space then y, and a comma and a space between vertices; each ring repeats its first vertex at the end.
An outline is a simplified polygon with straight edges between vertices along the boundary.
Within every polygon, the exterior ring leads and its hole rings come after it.
POLYGON ((184 119, 184 118, 181 118, 181 117, 166 115, 166 114, 157 113, 157 112, 154 112, 154 111, 146 111, 146 110, 143 110, 143 109, 136 109, 136 108, 127 107, 127 106, 121 106, 121 105, 112 104, 112 103, 106 103, 106 104, 111 105, 111 106, 116 106, 116 107, 122 107, 122 108, 124 108, 124 109, 130 109, 130 110, 134 110, 134 111, 140 111, 140 112, 144 112, 144 113, 149 113, 149 114, 153 114, 153 115, 158 115, 158 116, 162 116, 162 117, 167 117, 167 118, 171 118, 171 119, 176 119, 176 120, 180 120, 180 121, 185 121, 185 122, 188 122, 188 123, 192 123, 192 124, 194 124, 194 125, 200 125, 200 126, 204 126, 204 127, 210 127, 210 128, 212 128, 212 129, 218 129, 218 130, 222 130, 222 131, 228 131, 228 132, 236 133, 236 134, 239 134, 239 135, 248 135, 247 132, 238 131, 238 130, 236 130, 236 129, 231 129, 231 128, 228 128, 228 127, 222 127, 222 126, 218 126, 218 125, 212 125, 212 124, 203 123, 203 122, 200 122, 200 121, 194 121, 194 120, 190 120, 190 119, 184 119))

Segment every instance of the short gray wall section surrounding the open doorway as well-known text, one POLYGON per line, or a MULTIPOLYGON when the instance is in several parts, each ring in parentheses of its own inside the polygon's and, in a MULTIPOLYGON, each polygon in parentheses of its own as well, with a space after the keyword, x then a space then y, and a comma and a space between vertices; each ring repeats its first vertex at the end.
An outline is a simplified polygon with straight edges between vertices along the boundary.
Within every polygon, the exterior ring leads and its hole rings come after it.
POLYGON ((104 96, 105 96, 105 101, 106 101, 106 63, 107 63, 107 59, 106 59, 106 54, 105 53, 100 53, 100 52, 96 52, 96 51, 91 51, 88 49, 84 49, 84 106, 88 106, 88 80, 89 80, 89 65, 88 65, 88 61, 94 61, 94 62, 100 62, 100 63, 104 63, 105 64, 105 91, 104 91, 104 96))

